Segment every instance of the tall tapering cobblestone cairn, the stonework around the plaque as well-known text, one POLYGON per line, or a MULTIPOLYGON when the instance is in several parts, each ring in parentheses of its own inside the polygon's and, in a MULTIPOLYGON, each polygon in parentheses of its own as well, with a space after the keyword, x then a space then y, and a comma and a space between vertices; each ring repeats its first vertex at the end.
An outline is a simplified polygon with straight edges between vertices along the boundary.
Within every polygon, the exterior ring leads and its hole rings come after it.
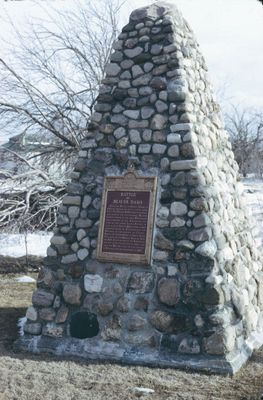
POLYGON ((263 283, 237 175, 187 22, 167 3, 135 10, 114 44, 17 347, 239 369, 263 341, 263 283), (131 162, 158 176, 150 266, 96 259, 104 177, 131 162))

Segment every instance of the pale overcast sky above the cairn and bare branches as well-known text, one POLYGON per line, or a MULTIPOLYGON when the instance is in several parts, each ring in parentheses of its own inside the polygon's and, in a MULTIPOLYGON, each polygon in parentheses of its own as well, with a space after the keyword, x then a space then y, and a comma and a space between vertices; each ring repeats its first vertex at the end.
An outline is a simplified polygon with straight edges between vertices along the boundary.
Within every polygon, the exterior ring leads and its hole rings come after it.
MULTIPOLYGON (((71 0, 50 0, 59 8, 71 0)), ((171 0, 182 11, 194 30, 208 64, 216 92, 225 92, 228 102, 263 110, 263 6, 257 0, 171 0)), ((134 8, 151 4, 150 0, 128 0, 122 12, 122 25, 134 8)), ((48 0, 42 0, 41 5, 48 0)), ((42 17, 35 2, 0 0, 0 11, 21 29, 31 16, 42 17), (1 11, 2 9, 2 11, 1 11)), ((8 35, 7 24, 1 34, 8 35)), ((0 55, 3 50, 0 49, 0 55)))

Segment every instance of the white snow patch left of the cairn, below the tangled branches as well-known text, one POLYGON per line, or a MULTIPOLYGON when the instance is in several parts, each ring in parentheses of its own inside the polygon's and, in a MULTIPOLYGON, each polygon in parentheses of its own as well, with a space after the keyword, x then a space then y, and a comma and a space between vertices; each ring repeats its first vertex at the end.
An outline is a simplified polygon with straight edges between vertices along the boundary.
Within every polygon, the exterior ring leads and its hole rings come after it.
POLYGON ((52 233, 36 232, 23 234, 0 234, 0 254, 9 257, 22 257, 34 255, 46 256, 52 233))

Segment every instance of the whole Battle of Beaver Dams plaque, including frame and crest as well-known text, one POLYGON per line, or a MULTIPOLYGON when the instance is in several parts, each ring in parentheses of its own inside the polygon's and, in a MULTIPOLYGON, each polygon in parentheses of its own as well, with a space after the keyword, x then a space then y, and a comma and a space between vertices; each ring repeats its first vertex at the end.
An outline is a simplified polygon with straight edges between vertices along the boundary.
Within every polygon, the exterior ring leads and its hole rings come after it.
POLYGON ((98 260, 150 263, 156 187, 156 177, 133 171, 105 178, 98 260))

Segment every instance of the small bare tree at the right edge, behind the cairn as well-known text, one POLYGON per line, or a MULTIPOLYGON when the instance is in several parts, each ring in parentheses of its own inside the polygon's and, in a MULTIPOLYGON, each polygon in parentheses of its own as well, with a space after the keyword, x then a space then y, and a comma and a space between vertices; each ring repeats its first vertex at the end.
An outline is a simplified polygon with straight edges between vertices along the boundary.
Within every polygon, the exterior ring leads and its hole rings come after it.
POLYGON ((232 107, 231 111, 225 114, 225 122, 240 172, 244 176, 249 172, 261 175, 263 114, 232 107))

